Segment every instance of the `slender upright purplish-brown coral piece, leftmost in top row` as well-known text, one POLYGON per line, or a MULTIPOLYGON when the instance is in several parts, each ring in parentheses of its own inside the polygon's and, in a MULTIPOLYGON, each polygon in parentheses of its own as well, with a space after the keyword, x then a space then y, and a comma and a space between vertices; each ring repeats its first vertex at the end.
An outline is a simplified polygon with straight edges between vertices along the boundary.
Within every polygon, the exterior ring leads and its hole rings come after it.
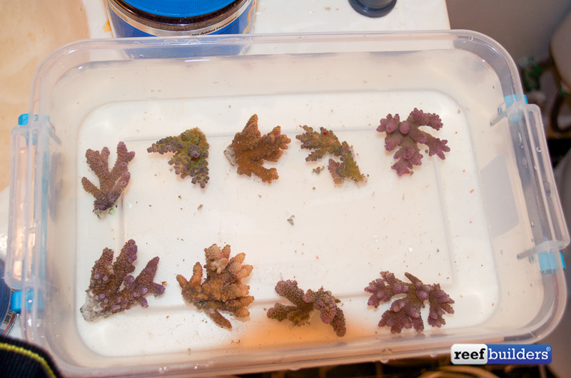
POLYGON ((129 152, 125 143, 119 142, 117 145, 117 159, 113 169, 109 170, 109 149, 103 147, 101 153, 96 150, 87 150, 85 153, 89 168, 94 171, 99 179, 99 188, 91 183, 86 177, 81 178, 81 184, 87 193, 95 197, 94 213, 98 217, 106 215, 118 200, 123 190, 127 187, 131 179, 131 173, 127 170, 128 163, 135 157, 135 152, 129 152))

